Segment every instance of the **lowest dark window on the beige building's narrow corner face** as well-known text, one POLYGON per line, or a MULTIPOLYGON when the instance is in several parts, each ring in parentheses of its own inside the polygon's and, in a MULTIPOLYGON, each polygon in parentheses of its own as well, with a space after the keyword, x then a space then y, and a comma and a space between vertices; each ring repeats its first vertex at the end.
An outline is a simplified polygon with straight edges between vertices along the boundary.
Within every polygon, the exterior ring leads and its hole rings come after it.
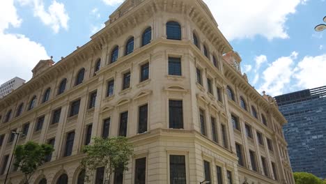
POLYGON ((186 184, 184 155, 170 155, 170 183, 186 184))

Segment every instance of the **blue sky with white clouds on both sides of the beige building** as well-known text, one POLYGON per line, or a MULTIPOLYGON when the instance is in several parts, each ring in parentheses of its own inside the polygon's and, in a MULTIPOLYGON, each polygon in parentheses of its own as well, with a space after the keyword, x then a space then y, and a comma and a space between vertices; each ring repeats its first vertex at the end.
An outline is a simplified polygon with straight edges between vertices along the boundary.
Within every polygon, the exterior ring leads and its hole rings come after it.
MULTIPOLYGON (((29 80, 40 59, 59 61, 104 26, 123 0, 0 2, 0 84, 29 80)), ((204 0, 242 57, 258 92, 279 95, 326 85, 325 0, 204 0)))

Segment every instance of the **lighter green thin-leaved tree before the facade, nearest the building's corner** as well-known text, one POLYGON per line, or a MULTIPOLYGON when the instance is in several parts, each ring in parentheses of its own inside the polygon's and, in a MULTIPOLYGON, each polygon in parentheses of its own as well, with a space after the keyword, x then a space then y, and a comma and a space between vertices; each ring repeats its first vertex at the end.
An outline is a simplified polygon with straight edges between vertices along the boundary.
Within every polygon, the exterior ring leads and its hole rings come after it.
POLYGON ((84 147, 86 157, 81 164, 86 170, 86 181, 91 181, 93 172, 104 167, 104 183, 111 183, 111 176, 117 169, 127 170, 127 164, 133 155, 132 144, 125 137, 98 138, 92 145, 84 147))

